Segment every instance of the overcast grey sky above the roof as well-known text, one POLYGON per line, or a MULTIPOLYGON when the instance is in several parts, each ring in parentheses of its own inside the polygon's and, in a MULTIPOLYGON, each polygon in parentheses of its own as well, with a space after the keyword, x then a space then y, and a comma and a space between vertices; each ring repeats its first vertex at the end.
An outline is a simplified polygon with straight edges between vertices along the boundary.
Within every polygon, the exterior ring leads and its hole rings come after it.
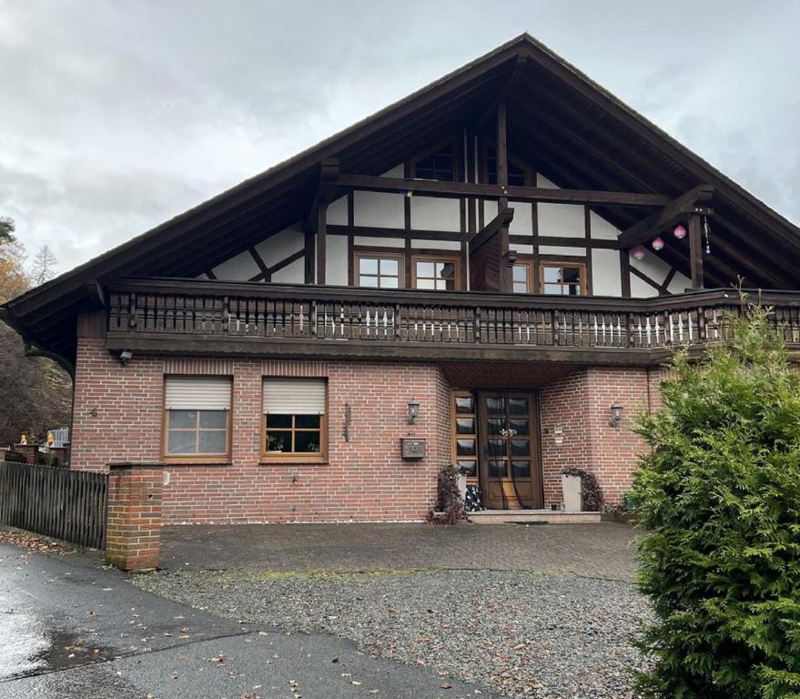
POLYGON ((0 215, 66 271, 527 31, 798 223, 798 26, 798 0, 0 0, 0 215))

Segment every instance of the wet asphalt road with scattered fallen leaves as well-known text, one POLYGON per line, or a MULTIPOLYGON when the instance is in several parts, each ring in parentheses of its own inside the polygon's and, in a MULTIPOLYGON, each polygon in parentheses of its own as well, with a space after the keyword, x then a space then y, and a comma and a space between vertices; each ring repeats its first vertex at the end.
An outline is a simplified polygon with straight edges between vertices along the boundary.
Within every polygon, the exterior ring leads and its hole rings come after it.
POLYGON ((0 699, 487 696, 335 636, 188 609, 78 553, 0 544, 0 612, 0 699))

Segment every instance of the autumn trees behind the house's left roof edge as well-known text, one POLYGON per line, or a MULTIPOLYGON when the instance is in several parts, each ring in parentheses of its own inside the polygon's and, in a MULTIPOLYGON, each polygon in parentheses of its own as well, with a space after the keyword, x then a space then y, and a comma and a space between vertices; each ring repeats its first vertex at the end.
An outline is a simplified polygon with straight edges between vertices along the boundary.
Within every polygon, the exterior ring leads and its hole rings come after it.
MULTIPOLYGON (((25 248, 11 232, 2 236, 0 217, 0 303, 30 288, 25 274, 25 248)), ((25 344, 16 332, 0 322, 0 445, 14 444, 25 433, 44 441, 47 430, 70 422, 72 383, 52 360, 25 357, 25 344)))

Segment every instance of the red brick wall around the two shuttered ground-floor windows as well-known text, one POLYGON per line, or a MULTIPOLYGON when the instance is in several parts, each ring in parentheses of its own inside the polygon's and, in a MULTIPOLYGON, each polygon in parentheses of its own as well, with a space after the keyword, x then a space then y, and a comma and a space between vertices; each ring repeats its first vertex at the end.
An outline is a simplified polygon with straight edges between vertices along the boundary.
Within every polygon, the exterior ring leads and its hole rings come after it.
POLYGON ((165 373, 233 376, 232 459, 169 464, 165 522, 420 520, 450 462, 449 386, 435 367, 346 361, 164 359, 135 355, 122 366, 102 339, 79 339, 73 468, 161 457, 165 373), (265 375, 328 378, 327 464, 259 464, 265 375), (416 425, 407 403, 420 401, 416 425), (343 437, 345 403, 350 439, 343 437), (426 437, 428 455, 400 459, 400 437, 426 437))

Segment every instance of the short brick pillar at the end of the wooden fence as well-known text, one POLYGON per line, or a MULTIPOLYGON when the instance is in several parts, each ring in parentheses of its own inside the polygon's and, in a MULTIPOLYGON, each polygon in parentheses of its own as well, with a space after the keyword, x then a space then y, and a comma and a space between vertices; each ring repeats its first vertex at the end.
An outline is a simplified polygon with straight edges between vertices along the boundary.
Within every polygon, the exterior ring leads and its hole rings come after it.
POLYGON ((161 547, 163 467, 112 463, 108 470, 106 561, 123 571, 155 570, 161 547))

